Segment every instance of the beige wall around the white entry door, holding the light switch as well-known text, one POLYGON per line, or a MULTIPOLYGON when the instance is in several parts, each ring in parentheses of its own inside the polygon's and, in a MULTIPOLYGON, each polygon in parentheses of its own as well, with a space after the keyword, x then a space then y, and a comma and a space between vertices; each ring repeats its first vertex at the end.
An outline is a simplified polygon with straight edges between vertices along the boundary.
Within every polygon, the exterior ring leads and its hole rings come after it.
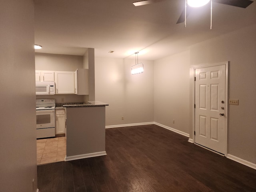
POLYGON ((191 68, 230 61, 229 98, 239 105, 229 105, 228 154, 255 164, 256 25, 196 44, 190 55, 191 68))

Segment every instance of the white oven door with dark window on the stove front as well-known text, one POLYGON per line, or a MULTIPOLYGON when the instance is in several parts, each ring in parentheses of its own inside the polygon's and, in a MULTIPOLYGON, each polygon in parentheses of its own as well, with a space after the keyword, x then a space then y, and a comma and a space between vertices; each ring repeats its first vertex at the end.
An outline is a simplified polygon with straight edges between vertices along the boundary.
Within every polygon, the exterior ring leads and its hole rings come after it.
POLYGON ((55 127, 55 110, 36 110, 36 129, 55 127))

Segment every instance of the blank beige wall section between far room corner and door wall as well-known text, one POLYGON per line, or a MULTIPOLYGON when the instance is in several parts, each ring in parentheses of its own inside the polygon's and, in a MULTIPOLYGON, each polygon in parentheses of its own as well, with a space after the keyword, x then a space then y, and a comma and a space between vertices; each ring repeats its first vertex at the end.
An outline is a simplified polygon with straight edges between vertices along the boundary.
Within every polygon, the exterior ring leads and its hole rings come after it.
POLYGON ((190 51, 154 62, 154 120, 185 133, 190 127, 189 72, 190 51))

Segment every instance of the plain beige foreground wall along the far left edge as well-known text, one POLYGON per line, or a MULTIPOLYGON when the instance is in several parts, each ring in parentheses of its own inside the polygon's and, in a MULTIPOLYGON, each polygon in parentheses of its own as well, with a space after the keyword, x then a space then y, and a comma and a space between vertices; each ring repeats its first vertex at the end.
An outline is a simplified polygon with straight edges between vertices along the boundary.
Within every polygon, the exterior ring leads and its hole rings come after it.
POLYGON ((35 192, 34 1, 1 1, 0 15, 0 191, 35 192))

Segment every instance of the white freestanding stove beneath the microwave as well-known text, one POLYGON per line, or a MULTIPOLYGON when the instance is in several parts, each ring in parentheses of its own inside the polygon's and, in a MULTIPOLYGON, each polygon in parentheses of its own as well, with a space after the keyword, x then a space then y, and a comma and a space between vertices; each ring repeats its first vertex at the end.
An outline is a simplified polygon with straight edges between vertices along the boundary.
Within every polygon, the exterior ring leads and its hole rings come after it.
POLYGON ((36 138, 55 137, 55 99, 36 99, 36 138))

